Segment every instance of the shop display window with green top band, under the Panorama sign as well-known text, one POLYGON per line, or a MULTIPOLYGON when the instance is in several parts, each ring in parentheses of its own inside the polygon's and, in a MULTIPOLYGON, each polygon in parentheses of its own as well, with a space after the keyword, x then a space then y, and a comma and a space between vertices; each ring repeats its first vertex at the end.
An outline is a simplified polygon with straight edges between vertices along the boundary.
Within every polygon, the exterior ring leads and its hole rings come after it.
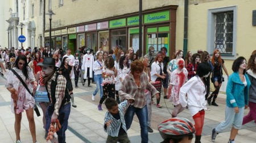
MULTIPOLYGON (((159 26, 159 27, 148 27, 146 28, 146 48, 153 46, 155 51, 158 52, 161 50, 161 47, 166 47, 169 49, 169 39, 170 39, 170 28, 169 26, 159 26)), ((168 50, 169 51, 169 50, 168 50)), ((169 53, 167 53, 168 55, 169 53)))

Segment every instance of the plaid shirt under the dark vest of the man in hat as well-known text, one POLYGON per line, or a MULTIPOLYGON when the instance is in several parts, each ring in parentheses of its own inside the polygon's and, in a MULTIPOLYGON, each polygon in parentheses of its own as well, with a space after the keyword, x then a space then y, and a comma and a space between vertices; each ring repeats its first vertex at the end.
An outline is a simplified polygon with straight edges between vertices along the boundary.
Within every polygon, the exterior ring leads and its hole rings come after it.
MULTIPOLYGON (((47 81, 47 89, 48 89, 48 93, 49 93, 49 97, 52 103, 52 96, 51 96, 51 82, 56 80, 56 72, 53 74, 52 78, 49 79, 47 81)), ((64 98, 64 94, 65 94, 65 89, 66 89, 66 84, 67 84, 67 80, 65 79, 65 77, 63 75, 59 75, 58 79, 57 79, 57 85, 56 85, 56 91, 55 91, 55 98, 58 99, 59 96, 62 96, 62 98, 64 98), (60 92, 63 92, 62 95, 60 95, 60 92)), ((57 102, 56 102, 57 103, 57 102)), ((55 110, 59 109, 61 102, 59 103, 59 105, 54 105, 55 110)), ((56 112, 56 114, 58 115, 59 112, 56 112)))

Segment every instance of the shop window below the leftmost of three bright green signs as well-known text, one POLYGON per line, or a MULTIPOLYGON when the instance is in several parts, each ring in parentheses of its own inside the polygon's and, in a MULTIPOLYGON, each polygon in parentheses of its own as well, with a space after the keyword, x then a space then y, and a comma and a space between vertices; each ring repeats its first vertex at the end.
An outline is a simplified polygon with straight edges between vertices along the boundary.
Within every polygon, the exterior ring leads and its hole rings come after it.
POLYGON ((123 51, 127 51, 126 47, 126 29, 111 32, 111 48, 121 47, 123 51))

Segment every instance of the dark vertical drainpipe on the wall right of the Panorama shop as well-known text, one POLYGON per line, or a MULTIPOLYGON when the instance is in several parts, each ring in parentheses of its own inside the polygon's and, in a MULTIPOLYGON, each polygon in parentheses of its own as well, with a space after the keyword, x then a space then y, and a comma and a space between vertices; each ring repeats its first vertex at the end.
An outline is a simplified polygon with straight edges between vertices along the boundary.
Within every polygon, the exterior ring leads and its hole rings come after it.
POLYGON ((187 54, 188 50, 188 0, 184 1, 184 38, 183 38, 183 55, 187 54))

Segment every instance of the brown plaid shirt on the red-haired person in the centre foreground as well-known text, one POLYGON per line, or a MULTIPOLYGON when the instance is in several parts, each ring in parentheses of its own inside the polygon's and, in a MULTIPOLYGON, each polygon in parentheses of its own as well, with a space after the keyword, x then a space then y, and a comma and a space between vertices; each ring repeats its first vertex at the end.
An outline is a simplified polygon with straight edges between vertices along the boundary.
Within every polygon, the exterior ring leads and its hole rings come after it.
POLYGON ((146 95, 144 90, 150 90, 152 95, 159 93, 158 90, 154 88, 153 85, 148 83, 148 77, 145 72, 141 74, 141 86, 138 87, 135 83, 133 75, 129 73, 129 75, 125 76, 123 79, 120 90, 118 92, 119 96, 123 99, 133 99, 135 102, 131 103, 134 107, 142 109, 146 105, 146 95))

